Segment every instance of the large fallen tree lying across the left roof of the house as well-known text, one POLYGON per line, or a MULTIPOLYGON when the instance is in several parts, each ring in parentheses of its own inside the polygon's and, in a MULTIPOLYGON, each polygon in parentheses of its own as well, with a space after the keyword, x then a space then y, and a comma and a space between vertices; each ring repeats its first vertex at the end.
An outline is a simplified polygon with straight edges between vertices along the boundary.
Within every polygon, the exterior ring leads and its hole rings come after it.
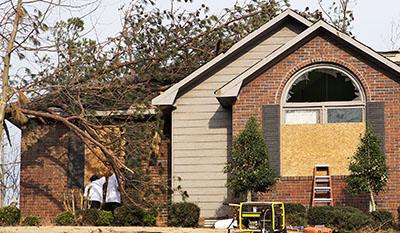
POLYGON ((21 80, 18 87, 19 101, 8 108, 14 122, 20 124, 28 120, 26 115, 33 115, 43 122, 67 126, 121 175, 117 176, 122 177, 121 182, 130 183, 141 193, 141 197, 132 199, 137 204, 145 193, 158 195, 155 188, 162 189, 162 185, 152 186, 149 178, 149 166, 163 172, 157 161, 163 112, 147 114, 152 109, 151 98, 228 50, 287 6, 285 0, 252 1, 211 15, 204 5, 193 12, 173 8, 161 11, 152 8, 153 3, 140 0, 128 5, 122 31, 104 42, 84 38, 84 24, 79 18, 57 22, 50 35, 54 46, 48 48, 55 51, 56 59, 37 54, 40 72, 27 71, 29 78, 21 80), (122 134, 99 137, 96 132, 109 125, 122 134))

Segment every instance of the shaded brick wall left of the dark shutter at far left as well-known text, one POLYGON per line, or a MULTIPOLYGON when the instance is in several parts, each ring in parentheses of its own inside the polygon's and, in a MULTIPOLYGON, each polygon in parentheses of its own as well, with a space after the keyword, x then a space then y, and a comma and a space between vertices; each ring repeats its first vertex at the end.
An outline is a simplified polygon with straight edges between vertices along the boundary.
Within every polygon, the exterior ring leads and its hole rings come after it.
POLYGON ((62 125, 40 125, 22 129, 21 199, 22 218, 37 215, 50 224, 64 211, 67 191, 68 129, 62 125))

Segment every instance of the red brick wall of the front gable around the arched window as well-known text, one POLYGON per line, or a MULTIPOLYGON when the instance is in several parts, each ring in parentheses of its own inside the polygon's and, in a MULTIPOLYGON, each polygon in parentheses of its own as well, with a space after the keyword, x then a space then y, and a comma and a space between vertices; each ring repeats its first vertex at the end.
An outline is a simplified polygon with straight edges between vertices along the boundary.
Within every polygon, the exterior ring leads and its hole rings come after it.
MULTIPOLYGON (((390 179, 385 192, 378 197, 378 209, 395 212, 400 206, 400 87, 399 75, 391 74, 367 56, 356 53, 329 35, 321 33, 286 58, 278 61, 263 74, 247 83, 232 107, 233 136, 244 129, 250 115, 262 117, 262 106, 281 103, 282 91, 298 70, 317 63, 330 63, 344 67, 358 77, 368 102, 385 103, 385 134, 387 165, 390 179)), ((256 198, 284 200, 310 204, 311 177, 283 177, 274 192, 256 198), (307 191, 308 190, 308 191, 307 191)), ((335 178, 334 198, 337 204, 365 208, 365 195, 353 198, 345 191, 343 178, 335 178)))

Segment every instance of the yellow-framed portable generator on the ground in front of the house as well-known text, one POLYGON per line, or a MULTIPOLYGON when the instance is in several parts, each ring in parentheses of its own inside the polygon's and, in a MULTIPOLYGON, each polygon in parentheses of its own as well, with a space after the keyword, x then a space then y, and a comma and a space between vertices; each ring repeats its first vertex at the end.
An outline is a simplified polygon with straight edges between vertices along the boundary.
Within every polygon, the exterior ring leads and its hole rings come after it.
POLYGON ((236 207, 236 219, 243 232, 286 233, 285 206, 282 202, 242 202, 229 206, 236 207))

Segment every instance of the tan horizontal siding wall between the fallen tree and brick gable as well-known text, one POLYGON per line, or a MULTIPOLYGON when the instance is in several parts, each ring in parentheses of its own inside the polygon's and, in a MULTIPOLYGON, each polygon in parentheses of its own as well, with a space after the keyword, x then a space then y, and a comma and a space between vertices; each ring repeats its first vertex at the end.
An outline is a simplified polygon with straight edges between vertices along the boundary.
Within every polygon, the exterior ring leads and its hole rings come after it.
MULTIPOLYGON (((292 39, 296 30, 291 25, 260 40, 176 100, 172 115, 172 171, 181 181, 174 180, 173 185, 179 184, 188 192, 188 201, 200 206, 202 217, 214 217, 217 212, 223 215, 222 203, 227 196, 223 169, 232 140, 232 115, 220 106, 214 91, 292 39)), ((174 200, 182 198, 174 194, 174 200)))

